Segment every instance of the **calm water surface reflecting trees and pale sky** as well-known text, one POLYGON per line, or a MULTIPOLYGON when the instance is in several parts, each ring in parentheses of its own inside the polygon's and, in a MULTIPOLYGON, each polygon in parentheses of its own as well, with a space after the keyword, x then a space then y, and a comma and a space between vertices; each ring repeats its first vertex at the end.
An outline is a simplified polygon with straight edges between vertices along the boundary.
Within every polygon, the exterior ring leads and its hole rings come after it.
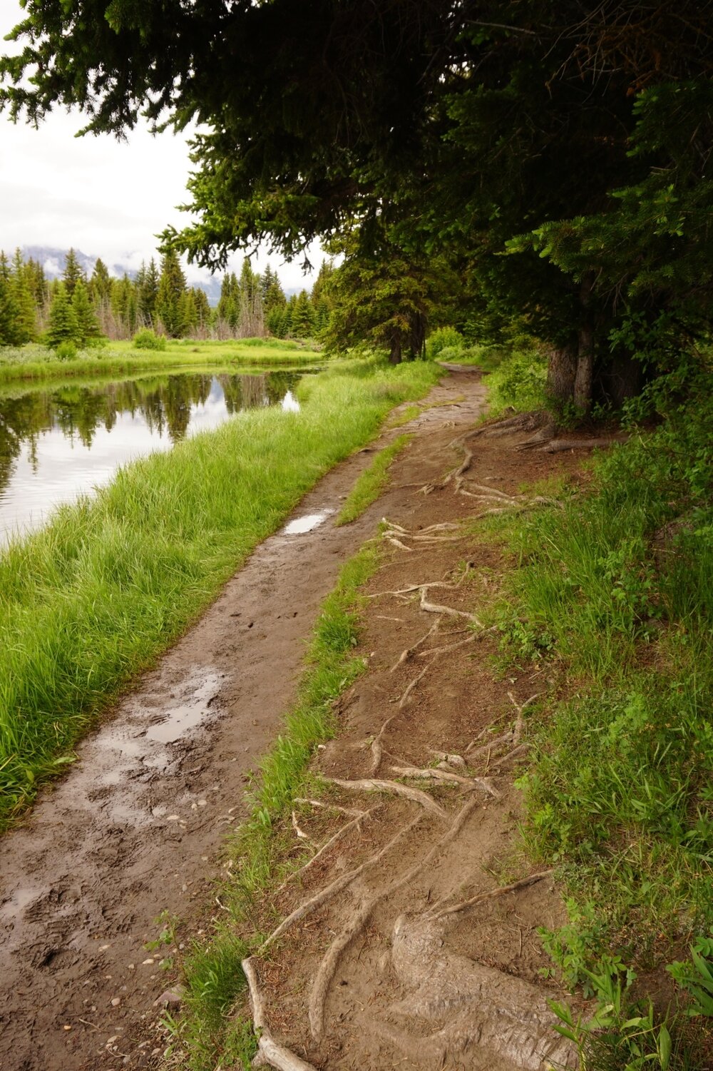
POLYGON ((0 389, 0 545, 117 468, 245 409, 298 409, 304 372, 143 376, 116 383, 0 389))

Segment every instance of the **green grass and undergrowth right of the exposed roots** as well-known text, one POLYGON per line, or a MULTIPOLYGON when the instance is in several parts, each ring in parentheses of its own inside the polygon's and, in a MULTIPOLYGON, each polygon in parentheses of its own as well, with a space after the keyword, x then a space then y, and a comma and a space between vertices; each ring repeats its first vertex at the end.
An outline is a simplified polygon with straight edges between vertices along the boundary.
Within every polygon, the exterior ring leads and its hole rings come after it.
MULTIPOLYGON (((713 927, 708 383, 666 416, 597 459, 563 509, 503 522, 516 556, 503 644, 541 668, 534 688, 558 681, 551 716, 530 726, 525 838, 568 894, 570 921, 546 947, 566 984, 590 993, 605 963, 611 977, 623 964, 644 976, 646 994, 649 972, 713 927)), ((713 1019, 684 1032, 694 1052, 713 1051, 713 1019)))

